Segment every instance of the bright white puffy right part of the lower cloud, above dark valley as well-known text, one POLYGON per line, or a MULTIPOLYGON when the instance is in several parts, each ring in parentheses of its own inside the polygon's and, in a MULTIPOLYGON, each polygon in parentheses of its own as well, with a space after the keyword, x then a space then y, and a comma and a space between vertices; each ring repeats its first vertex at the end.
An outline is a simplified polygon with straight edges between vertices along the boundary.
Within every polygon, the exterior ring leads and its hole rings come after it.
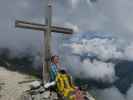
POLYGON ((104 82, 114 82, 116 79, 114 64, 112 63, 105 63, 97 60, 94 60, 93 62, 84 60, 82 62, 81 71, 83 71, 83 77, 86 78, 104 82))

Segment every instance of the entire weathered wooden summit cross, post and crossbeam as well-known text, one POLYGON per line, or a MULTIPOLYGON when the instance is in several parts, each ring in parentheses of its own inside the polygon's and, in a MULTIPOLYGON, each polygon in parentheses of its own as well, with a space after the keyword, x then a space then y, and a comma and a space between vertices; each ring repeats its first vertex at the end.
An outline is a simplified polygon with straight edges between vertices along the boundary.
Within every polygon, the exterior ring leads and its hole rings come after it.
POLYGON ((48 1, 47 15, 45 17, 45 25, 16 20, 15 26, 18 28, 33 29, 44 32, 44 55, 43 55, 43 83, 49 79, 49 66, 51 57, 51 32, 72 34, 73 30, 69 28, 63 28, 58 26, 52 26, 52 1, 48 1))

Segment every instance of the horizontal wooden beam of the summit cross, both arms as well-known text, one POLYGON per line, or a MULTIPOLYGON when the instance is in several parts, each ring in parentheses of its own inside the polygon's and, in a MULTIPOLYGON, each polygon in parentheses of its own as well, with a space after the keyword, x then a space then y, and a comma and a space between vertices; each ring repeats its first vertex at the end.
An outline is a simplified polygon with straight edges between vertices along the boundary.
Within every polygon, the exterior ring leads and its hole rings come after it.
MULTIPOLYGON (((28 21, 16 20, 15 27, 25 28, 25 29, 33 29, 33 30, 37 30, 37 31, 46 31, 48 26, 38 24, 38 23, 28 22, 28 21)), ((64 33, 64 34, 72 34, 73 33, 72 29, 58 27, 58 26, 52 26, 51 31, 56 32, 56 33, 64 33)))

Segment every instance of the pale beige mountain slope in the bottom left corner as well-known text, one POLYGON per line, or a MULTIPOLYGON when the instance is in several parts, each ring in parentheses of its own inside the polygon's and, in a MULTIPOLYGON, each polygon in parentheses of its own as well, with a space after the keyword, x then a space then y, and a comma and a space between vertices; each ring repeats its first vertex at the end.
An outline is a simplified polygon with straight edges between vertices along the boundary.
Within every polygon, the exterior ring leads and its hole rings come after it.
POLYGON ((0 67, 0 100, 18 100, 23 91, 29 89, 28 84, 19 84, 19 82, 28 80, 28 76, 8 71, 0 67))

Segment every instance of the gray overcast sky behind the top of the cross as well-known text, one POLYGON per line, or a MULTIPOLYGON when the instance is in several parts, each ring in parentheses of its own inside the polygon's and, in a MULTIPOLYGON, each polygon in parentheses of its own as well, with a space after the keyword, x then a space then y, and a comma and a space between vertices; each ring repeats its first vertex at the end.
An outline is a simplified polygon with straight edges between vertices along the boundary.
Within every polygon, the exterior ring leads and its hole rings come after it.
MULTIPOLYGON (((16 19, 44 23, 46 0, 1 0, 0 45, 42 46, 42 32, 16 29, 16 19)), ((132 0, 53 0, 53 25, 78 32, 110 32, 126 41, 133 37, 132 0)))

